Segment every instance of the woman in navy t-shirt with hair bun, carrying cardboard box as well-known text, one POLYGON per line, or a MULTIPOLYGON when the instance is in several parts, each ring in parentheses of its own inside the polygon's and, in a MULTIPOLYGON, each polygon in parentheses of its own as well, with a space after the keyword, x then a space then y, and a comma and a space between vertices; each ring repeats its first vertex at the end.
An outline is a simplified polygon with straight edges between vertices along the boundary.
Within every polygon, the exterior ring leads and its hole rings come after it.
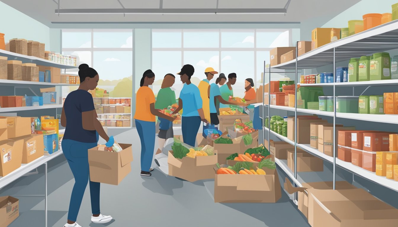
MULTIPOLYGON (((80 85, 76 91, 72 91, 65 99, 62 107, 61 125, 65 127, 62 140, 62 151, 68 161, 70 170, 75 179, 75 184, 70 197, 68 223, 64 227, 81 227, 76 223, 77 215, 82 204, 87 182, 90 180, 88 166, 88 149, 96 147, 99 136, 107 143, 105 146, 113 146, 113 136, 108 137, 97 119, 93 97, 88 90, 95 90, 100 77, 93 68, 87 64, 79 66, 80 85)), ((100 183, 90 180, 90 197, 92 217, 94 223, 108 223, 111 216, 100 213, 100 183)))

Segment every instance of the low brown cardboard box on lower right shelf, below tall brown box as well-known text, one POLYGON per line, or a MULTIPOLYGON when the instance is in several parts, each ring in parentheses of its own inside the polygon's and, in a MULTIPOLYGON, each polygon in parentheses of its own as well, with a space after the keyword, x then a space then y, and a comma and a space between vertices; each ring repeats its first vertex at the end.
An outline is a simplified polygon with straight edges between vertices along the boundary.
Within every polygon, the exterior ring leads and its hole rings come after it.
MULTIPOLYGON (((295 149, 287 149, 287 165, 295 171, 295 149)), ((322 172, 323 160, 314 155, 297 149, 297 172, 322 172)))

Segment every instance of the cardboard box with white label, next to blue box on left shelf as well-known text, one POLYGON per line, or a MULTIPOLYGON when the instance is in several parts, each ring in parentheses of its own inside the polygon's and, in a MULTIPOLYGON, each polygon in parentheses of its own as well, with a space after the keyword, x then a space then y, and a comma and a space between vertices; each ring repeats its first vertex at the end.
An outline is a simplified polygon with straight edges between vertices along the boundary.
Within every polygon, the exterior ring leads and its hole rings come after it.
POLYGON ((22 140, 22 164, 29 163, 44 155, 44 140, 42 134, 31 134, 29 136, 21 136, 11 138, 10 140, 22 140))

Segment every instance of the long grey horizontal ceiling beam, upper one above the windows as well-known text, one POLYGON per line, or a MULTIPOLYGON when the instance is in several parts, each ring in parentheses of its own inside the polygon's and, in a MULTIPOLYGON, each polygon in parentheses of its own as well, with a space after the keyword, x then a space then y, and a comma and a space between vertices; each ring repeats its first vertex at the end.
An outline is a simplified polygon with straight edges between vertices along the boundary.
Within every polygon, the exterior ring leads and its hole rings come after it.
POLYGON ((286 9, 59 9, 55 14, 286 14, 286 9))

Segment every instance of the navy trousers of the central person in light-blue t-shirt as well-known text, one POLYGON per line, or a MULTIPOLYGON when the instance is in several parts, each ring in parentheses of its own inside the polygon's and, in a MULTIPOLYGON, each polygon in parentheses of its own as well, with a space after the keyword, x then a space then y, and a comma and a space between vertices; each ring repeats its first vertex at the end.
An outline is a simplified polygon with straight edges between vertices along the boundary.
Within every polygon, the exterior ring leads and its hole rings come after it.
POLYGON ((181 118, 182 139, 185 144, 195 147, 196 135, 200 128, 200 116, 183 116, 181 118))

